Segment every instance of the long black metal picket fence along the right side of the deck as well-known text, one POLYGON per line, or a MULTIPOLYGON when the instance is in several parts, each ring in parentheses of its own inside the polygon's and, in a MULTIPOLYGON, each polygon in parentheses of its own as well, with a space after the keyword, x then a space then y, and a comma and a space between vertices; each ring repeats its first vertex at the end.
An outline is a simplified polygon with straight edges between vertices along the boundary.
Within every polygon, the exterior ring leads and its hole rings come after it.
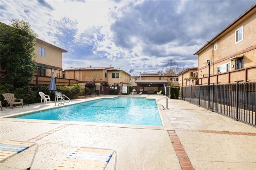
POLYGON ((181 87, 180 98, 256 127, 256 82, 181 87))

